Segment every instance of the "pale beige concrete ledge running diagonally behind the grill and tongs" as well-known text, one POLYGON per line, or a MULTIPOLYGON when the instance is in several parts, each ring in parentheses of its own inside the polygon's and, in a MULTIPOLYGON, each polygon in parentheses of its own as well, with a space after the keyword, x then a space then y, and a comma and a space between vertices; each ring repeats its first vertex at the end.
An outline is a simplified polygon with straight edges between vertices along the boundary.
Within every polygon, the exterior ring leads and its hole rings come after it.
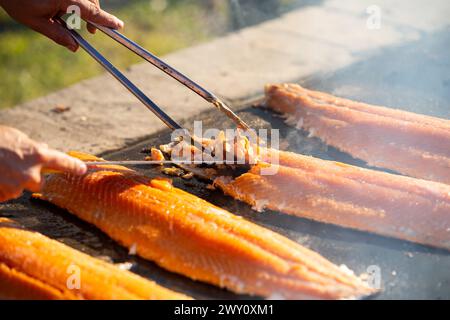
MULTIPOLYGON (((381 29, 370 30, 366 8, 371 4, 325 1, 164 59, 233 103, 261 94, 265 83, 334 72, 384 47, 418 40, 450 24, 449 1, 383 0, 377 1, 381 29)), ((125 74, 177 120, 211 108, 147 63, 134 65, 125 74)), ((61 150, 93 153, 121 148, 164 128, 107 74, 3 110, 0 123, 61 150), (56 105, 71 109, 57 114, 51 111, 56 105)))

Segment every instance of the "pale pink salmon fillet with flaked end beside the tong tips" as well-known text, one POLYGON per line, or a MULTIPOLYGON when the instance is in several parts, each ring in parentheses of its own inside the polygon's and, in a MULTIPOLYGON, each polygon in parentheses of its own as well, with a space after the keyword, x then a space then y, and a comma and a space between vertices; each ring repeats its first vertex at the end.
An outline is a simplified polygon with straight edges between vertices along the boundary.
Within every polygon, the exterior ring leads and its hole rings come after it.
POLYGON ((259 163, 234 180, 219 177, 214 185, 257 210, 450 249, 449 185, 292 152, 270 153, 277 153, 276 174, 261 174, 268 164, 259 163))

